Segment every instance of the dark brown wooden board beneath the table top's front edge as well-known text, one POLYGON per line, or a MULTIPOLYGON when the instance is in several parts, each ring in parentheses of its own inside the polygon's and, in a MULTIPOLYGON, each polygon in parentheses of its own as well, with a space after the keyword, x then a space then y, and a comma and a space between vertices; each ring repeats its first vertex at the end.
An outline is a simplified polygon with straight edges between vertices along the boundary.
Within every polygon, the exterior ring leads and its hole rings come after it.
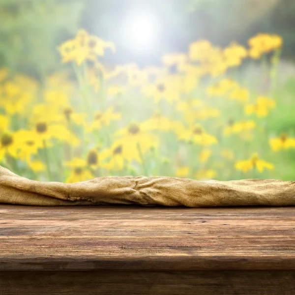
POLYGON ((294 295, 295 271, 8 271, 0 294, 294 295))

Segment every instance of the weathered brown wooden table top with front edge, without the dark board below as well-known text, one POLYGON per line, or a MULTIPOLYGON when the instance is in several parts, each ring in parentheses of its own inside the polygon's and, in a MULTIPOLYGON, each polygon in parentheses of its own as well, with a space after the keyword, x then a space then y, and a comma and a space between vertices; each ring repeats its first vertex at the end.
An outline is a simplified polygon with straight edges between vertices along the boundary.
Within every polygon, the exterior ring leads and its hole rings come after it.
POLYGON ((0 271, 295 269, 295 207, 0 205, 0 271))

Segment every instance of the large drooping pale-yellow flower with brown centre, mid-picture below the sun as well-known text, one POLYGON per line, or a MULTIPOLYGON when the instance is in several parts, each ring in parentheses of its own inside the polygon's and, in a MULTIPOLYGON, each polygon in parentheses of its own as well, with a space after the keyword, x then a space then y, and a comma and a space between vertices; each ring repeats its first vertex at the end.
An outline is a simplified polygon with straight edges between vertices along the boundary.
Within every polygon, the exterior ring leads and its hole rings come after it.
POLYGON ((116 134, 119 138, 113 143, 114 146, 122 146, 125 159, 142 162, 142 156, 149 148, 158 146, 158 139, 152 135, 145 126, 131 123, 126 128, 119 130, 116 134))

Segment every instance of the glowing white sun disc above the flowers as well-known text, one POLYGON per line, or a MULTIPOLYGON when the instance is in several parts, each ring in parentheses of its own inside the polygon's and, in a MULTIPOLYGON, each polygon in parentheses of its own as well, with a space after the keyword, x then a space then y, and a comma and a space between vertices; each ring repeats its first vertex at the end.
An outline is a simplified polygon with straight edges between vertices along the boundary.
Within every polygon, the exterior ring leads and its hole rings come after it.
POLYGON ((150 52, 159 41, 159 22, 149 13, 130 13, 123 22, 121 37, 133 52, 150 52))

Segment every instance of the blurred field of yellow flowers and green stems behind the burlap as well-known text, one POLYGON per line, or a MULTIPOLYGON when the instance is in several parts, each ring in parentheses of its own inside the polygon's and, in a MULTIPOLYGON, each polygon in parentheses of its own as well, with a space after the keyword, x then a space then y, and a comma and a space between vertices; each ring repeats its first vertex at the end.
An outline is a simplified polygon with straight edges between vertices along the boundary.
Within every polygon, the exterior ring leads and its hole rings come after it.
POLYGON ((161 66, 109 66, 101 58, 116 45, 81 29, 58 48, 71 71, 40 82, 0 69, 0 165, 65 182, 289 179, 295 134, 288 120, 276 124, 294 108, 292 89, 278 83, 282 45, 263 33, 247 48, 198 40, 164 55, 161 66), (253 63, 259 79, 242 74, 253 63))

